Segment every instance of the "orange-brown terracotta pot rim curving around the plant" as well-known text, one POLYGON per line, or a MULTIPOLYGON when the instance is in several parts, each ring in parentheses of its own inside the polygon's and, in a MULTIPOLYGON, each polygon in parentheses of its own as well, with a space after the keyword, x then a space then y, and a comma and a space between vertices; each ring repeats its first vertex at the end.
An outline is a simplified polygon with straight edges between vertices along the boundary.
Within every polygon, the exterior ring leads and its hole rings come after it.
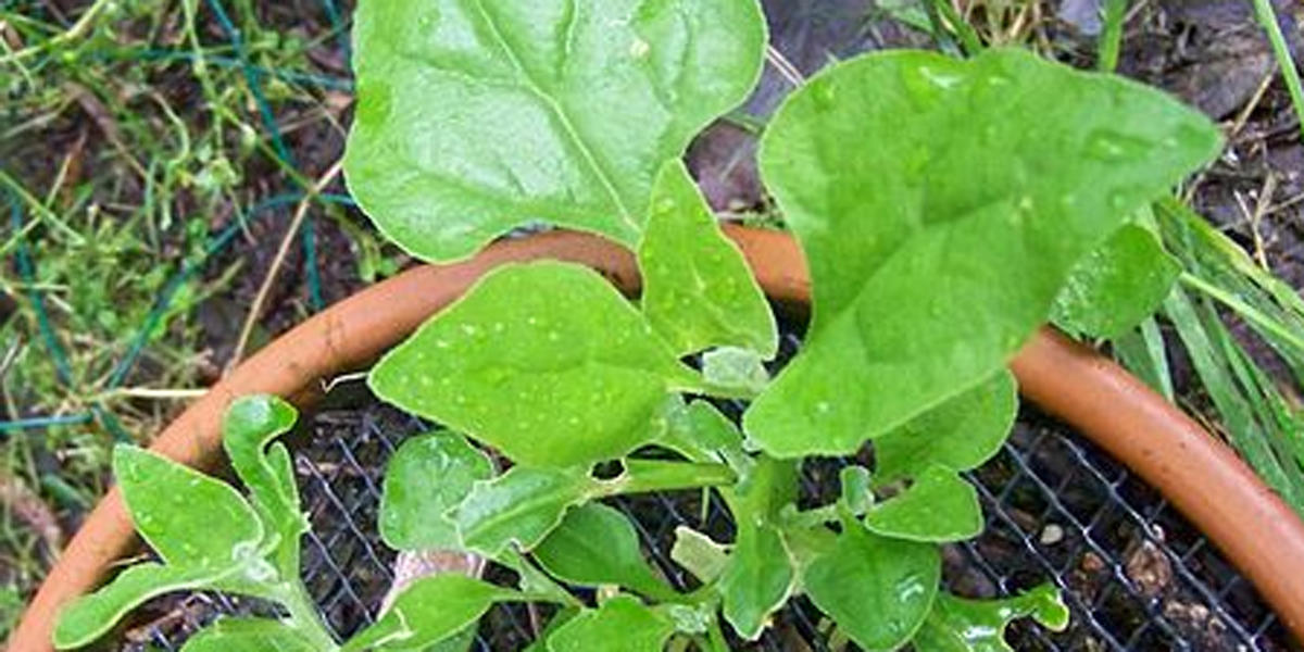
MULTIPOLYGON (((808 303, 806 263, 789 236, 742 227, 726 231, 773 300, 808 303)), ((306 407, 319 396, 323 378, 365 366, 486 271, 537 258, 588 265, 630 293, 639 287, 638 267, 626 249, 572 232, 503 240, 466 262, 417 267, 331 306, 269 344, 183 412, 151 449, 211 468, 222 450, 222 412, 233 398, 270 393, 306 407)), ((1304 640, 1304 522, 1235 452, 1112 361, 1048 329, 1020 351, 1011 368, 1026 398, 1162 492, 1304 640)), ((46 578, 9 649, 51 649, 59 608, 94 589, 111 565, 137 545, 115 489, 46 578)))

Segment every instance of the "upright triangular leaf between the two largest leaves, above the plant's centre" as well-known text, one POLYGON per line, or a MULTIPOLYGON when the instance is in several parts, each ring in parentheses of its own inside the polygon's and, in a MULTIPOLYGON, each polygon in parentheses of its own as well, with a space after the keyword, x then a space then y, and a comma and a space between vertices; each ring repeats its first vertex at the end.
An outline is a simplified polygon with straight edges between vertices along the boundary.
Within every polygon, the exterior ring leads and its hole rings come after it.
POLYGON ((764 357, 778 351, 765 295, 678 159, 657 175, 639 267, 643 314, 677 353, 724 346, 764 357))

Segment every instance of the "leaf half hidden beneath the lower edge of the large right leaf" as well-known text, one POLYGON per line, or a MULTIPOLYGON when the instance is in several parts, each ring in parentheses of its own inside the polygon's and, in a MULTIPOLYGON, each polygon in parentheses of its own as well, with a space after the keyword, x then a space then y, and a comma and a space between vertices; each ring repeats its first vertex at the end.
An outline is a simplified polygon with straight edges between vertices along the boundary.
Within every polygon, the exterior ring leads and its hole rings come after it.
POLYGON ((1001 370, 875 439, 875 479, 913 477, 934 464, 955 471, 978 468, 1000 451, 1017 415, 1015 376, 1001 370))

